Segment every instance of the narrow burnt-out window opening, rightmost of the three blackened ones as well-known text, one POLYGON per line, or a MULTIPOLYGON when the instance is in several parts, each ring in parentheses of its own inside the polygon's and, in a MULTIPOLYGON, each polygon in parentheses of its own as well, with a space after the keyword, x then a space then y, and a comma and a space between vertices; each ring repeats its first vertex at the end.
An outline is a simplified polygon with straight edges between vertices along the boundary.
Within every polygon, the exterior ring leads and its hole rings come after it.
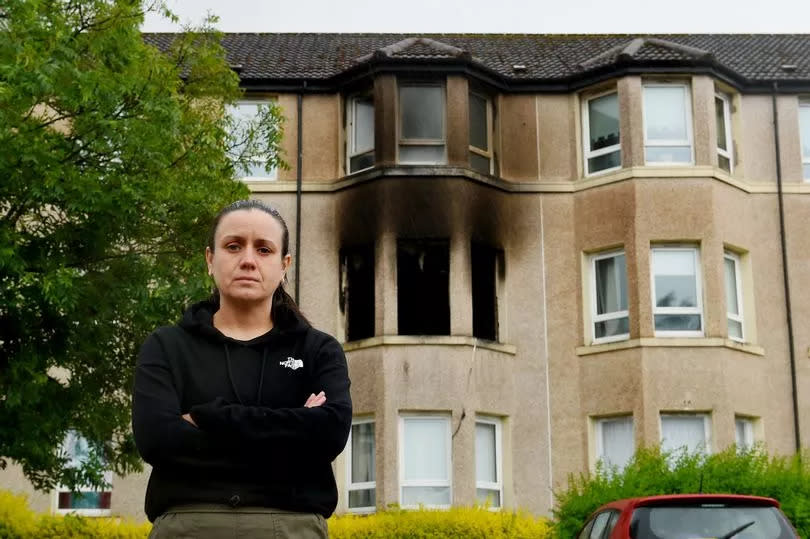
POLYGON ((503 251, 473 242, 473 336, 498 340, 498 283, 502 278, 503 251))

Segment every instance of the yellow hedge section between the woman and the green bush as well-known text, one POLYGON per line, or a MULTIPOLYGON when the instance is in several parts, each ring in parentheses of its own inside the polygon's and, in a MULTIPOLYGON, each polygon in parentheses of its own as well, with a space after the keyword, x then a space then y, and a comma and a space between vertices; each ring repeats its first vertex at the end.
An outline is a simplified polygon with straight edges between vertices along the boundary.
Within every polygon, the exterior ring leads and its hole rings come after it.
POLYGON ((341 515, 329 519, 332 539, 452 539, 551 537, 551 524, 518 511, 485 507, 405 511, 389 509, 372 515, 341 515))

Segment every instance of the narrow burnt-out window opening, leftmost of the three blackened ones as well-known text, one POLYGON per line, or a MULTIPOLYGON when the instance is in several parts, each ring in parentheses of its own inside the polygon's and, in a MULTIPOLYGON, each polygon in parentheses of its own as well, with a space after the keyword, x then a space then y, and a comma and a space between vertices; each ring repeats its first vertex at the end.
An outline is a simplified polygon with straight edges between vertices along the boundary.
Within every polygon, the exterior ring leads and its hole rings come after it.
POLYGON ((340 251, 340 311, 346 340, 374 336, 374 245, 340 251))

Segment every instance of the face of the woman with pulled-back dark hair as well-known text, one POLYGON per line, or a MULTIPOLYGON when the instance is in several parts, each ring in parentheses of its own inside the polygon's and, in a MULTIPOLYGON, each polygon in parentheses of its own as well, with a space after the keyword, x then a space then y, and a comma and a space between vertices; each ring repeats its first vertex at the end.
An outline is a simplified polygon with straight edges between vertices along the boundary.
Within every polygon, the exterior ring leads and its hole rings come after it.
POLYGON ((281 224, 261 210, 236 210, 222 217, 214 250, 205 250, 220 297, 240 303, 273 297, 291 261, 289 254, 281 254, 282 233, 281 224))

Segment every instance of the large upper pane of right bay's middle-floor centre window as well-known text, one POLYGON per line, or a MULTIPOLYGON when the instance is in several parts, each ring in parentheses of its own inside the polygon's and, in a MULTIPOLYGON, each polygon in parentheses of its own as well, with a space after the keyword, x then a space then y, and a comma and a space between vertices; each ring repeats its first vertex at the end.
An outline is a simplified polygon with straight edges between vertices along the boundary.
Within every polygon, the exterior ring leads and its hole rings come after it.
POLYGON ((653 251, 656 307, 697 307, 693 251, 653 251))

